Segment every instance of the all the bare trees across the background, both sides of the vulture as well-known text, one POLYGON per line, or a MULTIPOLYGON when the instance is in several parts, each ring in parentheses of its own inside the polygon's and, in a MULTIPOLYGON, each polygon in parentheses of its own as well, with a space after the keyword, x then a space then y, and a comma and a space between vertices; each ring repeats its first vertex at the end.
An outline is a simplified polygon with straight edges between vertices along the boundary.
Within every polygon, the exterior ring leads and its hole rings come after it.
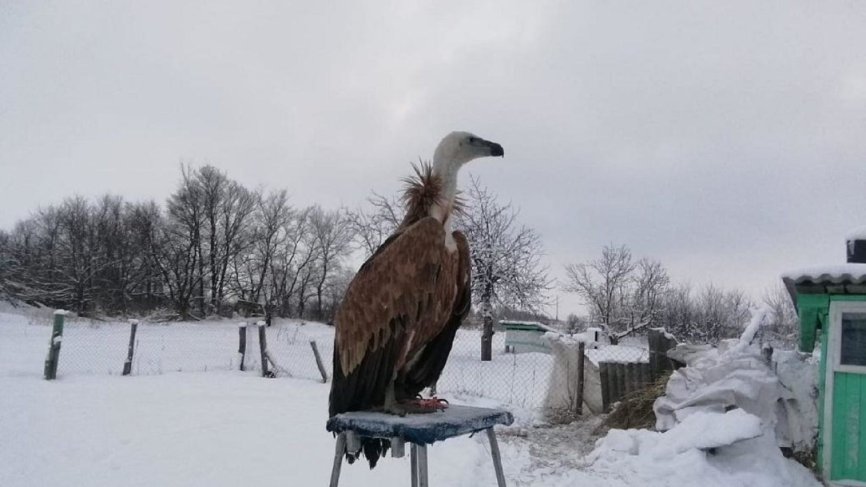
MULTIPOLYGON (((540 235, 520 224, 477 178, 455 227, 469 239, 475 311, 490 341, 493 312, 539 312, 551 282, 540 235)), ((213 166, 183 167, 164 205, 105 195, 70 197, 0 230, 0 298, 83 315, 171 309, 181 319, 256 311, 328 321, 352 278, 352 253, 371 255, 404 217, 396 197, 363 208, 296 208, 286 190, 250 190, 213 166)), ((755 303, 745 292, 673 283, 661 262, 609 245, 565 266, 566 292, 617 342, 663 326, 682 340, 714 343, 739 333, 755 303)), ((796 336, 784 289, 765 293, 779 341, 796 336)), ((575 320, 572 320, 575 321, 575 320)), ((485 347, 488 349, 488 347, 485 347)))

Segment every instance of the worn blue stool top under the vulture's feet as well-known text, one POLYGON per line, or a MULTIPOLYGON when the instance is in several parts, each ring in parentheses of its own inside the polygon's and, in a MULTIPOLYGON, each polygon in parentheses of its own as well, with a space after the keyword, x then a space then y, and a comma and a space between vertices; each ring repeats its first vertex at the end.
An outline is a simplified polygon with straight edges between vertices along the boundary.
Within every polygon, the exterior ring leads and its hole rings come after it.
POLYGON ((401 438, 417 445, 473 433, 494 425, 510 425, 514 416, 504 409, 449 405, 437 413, 406 414, 352 411, 327 420, 327 431, 352 431, 372 438, 401 438))

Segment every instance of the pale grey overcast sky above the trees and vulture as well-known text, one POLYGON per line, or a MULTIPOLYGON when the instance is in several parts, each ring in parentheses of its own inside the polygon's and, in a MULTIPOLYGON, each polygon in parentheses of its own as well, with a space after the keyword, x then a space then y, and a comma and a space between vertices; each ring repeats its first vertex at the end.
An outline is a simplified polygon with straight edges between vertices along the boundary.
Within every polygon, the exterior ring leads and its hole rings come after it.
POLYGON ((0 227, 181 161, 356 206, 452 130, 553 276, 613 242, 759 294, 866 224, 866 2, 0 0, 0 227))

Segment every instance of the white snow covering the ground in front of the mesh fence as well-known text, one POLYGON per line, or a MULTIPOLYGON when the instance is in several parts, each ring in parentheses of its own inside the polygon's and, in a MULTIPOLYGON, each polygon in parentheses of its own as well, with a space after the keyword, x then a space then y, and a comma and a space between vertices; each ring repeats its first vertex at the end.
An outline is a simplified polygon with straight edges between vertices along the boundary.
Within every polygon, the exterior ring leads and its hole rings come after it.
MULTIPOLYGON (((43 381, 48 327, 37 321, 0 313, 3 487, 326 484, 333 458, 333 438, 324 428, 327 384, 211 368, 171 372, 165 362, 160 375, 68 373, 43 381)), ((304 339, 325 331, 313 327, 304 339)), ((537 427, 533 412, 514 413, 517 423, 500 430, 512 486, 820 485, 767 437, 748 439, 759 434, 759 422, 736 411, 696 418, 669 433, 615 431, 598 443, 597 420, 537 427), (744 439, 708 451, 731 435, 744 439)), ((495 485, 488 452, 483 435, 432 446, 430 484, 495 485)), ((346 465, 341 485, 408 482, 408 458, 386 458, 375 471, 346 465)))

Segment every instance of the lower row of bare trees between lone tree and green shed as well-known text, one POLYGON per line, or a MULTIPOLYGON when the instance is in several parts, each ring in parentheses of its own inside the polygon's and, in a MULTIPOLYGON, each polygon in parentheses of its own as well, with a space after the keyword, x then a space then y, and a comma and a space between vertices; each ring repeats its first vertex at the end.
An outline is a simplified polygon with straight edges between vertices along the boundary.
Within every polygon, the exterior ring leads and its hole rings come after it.
POLYGON ((772 310, 770 340, 791 345, 797 335, 796 312, 781 285, 760 302, 739 289, 695 289, 673 283, 661 262, 636 260, 629 247, 614 245, 605 246, 598 259, 565 266, 565 275, 563 290, 583 299, 589 322, 608 329, 612 343, 647 327, 663 327, 690 343, 716 343, 738 336, 755 305, 772 310))

